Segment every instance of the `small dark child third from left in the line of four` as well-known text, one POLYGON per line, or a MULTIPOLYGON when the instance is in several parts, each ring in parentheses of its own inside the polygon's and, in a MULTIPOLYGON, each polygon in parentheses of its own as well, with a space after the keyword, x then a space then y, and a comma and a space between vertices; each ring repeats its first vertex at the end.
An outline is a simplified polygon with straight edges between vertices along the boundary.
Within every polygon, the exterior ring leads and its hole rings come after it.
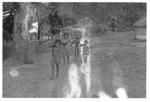
POLYGON ((79 49, 79 45, 80 45, 80 39, 79 37, 76 37, 76 39, 72 42, 72 44, 75 44, 75 58, 78 59, 79 58, 79 53, 80 53, 80 49, 79 49))

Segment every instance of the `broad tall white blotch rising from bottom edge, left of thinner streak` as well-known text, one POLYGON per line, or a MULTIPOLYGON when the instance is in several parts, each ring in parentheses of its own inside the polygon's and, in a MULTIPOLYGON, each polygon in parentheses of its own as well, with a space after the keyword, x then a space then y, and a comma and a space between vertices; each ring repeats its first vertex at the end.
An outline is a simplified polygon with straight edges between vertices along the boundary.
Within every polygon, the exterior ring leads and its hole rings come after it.
POLYGON ((78 98, 81 95, 81 88, 79 85, 79 73, 78 67, 75 64, 71 64, 69 67, 68 80, 69 80, 69 92, 66 93, 68 98, 78 98))

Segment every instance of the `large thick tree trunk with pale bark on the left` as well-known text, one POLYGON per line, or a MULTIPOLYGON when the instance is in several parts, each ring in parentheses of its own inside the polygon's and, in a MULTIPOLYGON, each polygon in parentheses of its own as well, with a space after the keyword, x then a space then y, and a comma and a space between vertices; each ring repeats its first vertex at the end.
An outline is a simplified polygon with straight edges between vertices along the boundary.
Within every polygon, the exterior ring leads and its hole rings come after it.
POLYGON ((30 17, 33 17, 33 10, 30 3, 20 3, 20 10, 16 13, 14 21, 14 41, 16 44, 16 57, 21 63, 31 63, 29 27, 30 17))

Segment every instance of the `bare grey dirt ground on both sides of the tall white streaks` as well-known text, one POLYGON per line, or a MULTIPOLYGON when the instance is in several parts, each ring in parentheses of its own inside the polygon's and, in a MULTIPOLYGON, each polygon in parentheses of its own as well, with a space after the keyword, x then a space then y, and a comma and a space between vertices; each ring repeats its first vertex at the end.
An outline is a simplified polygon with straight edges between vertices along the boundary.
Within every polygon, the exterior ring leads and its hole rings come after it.
MULTIPOLYGON (((129 97, 146 97, 146 49, 123 38, 123 35, 116 34, 91 39, 89 97, 96 96, 102 90, 116 97, 118 87, 124 87, 129 97)), ((61 64, 59 77, 50 80, 50 52, 37 56, 33 65, 18 67, 17 77, 10 76, 12 68, 4 66, 3 96, 62 97, 68 68, 69 65, 61 64)))

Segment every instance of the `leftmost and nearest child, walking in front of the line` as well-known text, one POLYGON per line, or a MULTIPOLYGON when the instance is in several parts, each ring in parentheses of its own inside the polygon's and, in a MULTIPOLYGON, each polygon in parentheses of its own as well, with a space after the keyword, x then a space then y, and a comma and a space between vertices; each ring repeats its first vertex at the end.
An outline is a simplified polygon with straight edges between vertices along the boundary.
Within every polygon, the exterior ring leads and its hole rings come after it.
POLYGON ((59 65, 61 63, 61 41, 55 40, 54 45, 52 45, 50 47, 52 47, 52 57, 51 57, 52 77, 51 77, 51 80, 53 80, 55 70, 56 70, 56 77, 58 77, 58 73, 59 73, 59 65))

